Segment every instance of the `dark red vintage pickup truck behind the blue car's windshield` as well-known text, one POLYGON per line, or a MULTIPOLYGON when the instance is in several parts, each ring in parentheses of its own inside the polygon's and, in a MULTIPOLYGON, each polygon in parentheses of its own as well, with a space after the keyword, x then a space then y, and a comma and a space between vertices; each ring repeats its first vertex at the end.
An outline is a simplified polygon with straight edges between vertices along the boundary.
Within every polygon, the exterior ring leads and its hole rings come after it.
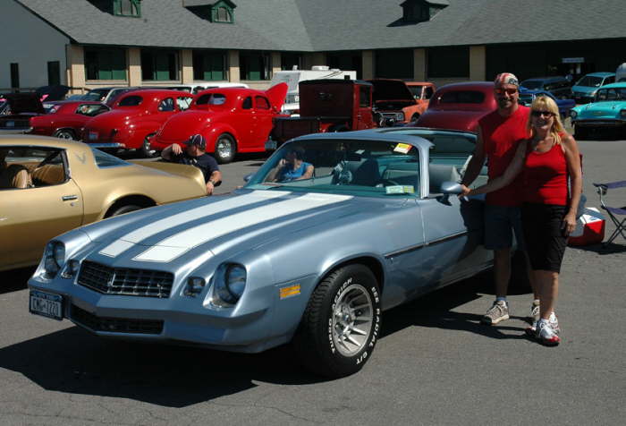
POLYGON ((266 149, 309 133, 348 132, 376 127, 372 84, 360 80, 300 81, 300 116, 275 117, 266 149))

